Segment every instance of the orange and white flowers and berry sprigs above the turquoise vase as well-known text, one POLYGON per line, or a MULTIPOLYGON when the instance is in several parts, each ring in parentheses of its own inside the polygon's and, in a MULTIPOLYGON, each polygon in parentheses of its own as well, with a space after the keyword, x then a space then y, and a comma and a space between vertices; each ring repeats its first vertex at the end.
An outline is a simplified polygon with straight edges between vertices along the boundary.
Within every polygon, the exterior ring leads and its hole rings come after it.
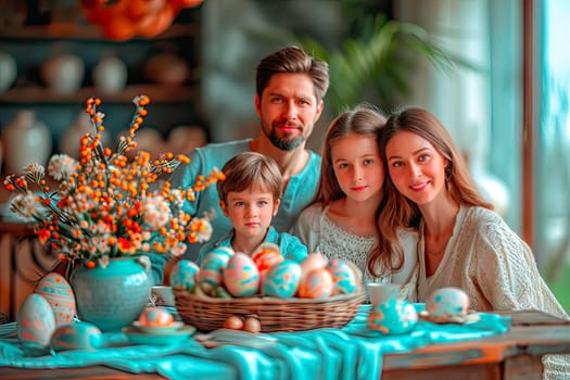
POLYGON ((87 101, 93 132, 79 141, 79 162, 55 154, 48 163, 48 175, 51 182, 58 183, 58 190, 50 190, 46 168, 38 163, 27 165, 21 176, 5 177, 7 189, 18 192, 11 211, 36 221, 39 240, 59 252, 61 259, 79 262, 87 268, 104 268, 111 257, 143 253, 177 257, 186 251, 187 243, 207 241, 212 235, 207 215, 191 217, 182 211, 182 203, 194 201, 198 191, 223 180, 224 175, 214 169, 207 177, 198 176, 192 189, 173 189, 168 181, 160 187, 155 186, 159 182, 153 185, 162 174, 172 173, 190 160, 166 153, 152 161, 144 151, 137 151, 129 159, 150 99, 139 96, 132 102, 136 111, 129 136, 121 138, 117 152, 113 153, 101 143, 101 100, 87 101), (33 192, 28 183, 39 191, 33 192))

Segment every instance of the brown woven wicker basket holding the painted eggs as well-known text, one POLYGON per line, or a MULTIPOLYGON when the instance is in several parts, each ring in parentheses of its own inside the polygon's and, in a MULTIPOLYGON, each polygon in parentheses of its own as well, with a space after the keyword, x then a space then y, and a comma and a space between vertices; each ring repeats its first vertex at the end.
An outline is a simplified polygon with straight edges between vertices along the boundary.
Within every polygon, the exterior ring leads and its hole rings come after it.
POLYGON ((263 332, 343 327, 354 318, 366 297, 362 290, 328 299, 215 299, 178 290, 174 294, 182 320, 200 330, 219 329, 230 315, 256 315, 263 332))

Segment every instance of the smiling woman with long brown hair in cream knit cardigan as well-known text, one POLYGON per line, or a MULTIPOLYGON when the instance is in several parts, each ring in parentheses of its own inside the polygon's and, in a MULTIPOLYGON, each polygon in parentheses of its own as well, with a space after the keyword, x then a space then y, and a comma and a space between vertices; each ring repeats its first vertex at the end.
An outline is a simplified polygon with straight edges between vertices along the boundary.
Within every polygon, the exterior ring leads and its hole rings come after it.
MULTIPOLYGON (((478 312, 540 309, 568 319, 530 248, 478 193, 447 130, 430 112, 392 114, 380 134, 388 165, 380 230, 417 230, 418 301, 442 287, 467 292, 478 312)), ((545 357, 548 376, 570 373, 568 357, 545 357), (553 362, 555 360, 555 362, 553 362)))

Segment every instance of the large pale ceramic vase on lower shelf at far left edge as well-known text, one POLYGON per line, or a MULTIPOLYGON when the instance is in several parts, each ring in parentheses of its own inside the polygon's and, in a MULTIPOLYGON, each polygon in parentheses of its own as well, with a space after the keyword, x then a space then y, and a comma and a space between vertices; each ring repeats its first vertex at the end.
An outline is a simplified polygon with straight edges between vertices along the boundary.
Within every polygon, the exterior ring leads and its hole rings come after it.
POLYGON ((47 165, 51 153, 51 132, 30 110, 18 111, 2 129, 5 173, 23 173, 30 163, 47 165))

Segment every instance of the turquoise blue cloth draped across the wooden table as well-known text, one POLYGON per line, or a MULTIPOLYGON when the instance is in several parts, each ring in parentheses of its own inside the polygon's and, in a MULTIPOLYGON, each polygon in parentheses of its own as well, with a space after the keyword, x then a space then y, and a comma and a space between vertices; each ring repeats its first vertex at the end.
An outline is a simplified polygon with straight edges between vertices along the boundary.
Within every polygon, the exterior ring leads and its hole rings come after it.
MULTIPOLYGON (((481 314, 468 325, 419 321, 402 335, 368 329, 369 305, 342 329, 316 329, 269 334, 261 349, 223 345, 205 349, 194 339, 172 345, 132 345, 121 332, 105 333, 97 351, 64 351, 34 355, 15 335, 0 339, 0 366, 65 368, 105 365, 129 372, 159 372, 169 379, 379 379, 382 354, 408 352, 427 344, 478 339, 508 331, 510 318, 481 314)), ((422 308, 422 305, 416 305, 422 308)), ((1 337, 1 335, 0 335, 1 337)))

